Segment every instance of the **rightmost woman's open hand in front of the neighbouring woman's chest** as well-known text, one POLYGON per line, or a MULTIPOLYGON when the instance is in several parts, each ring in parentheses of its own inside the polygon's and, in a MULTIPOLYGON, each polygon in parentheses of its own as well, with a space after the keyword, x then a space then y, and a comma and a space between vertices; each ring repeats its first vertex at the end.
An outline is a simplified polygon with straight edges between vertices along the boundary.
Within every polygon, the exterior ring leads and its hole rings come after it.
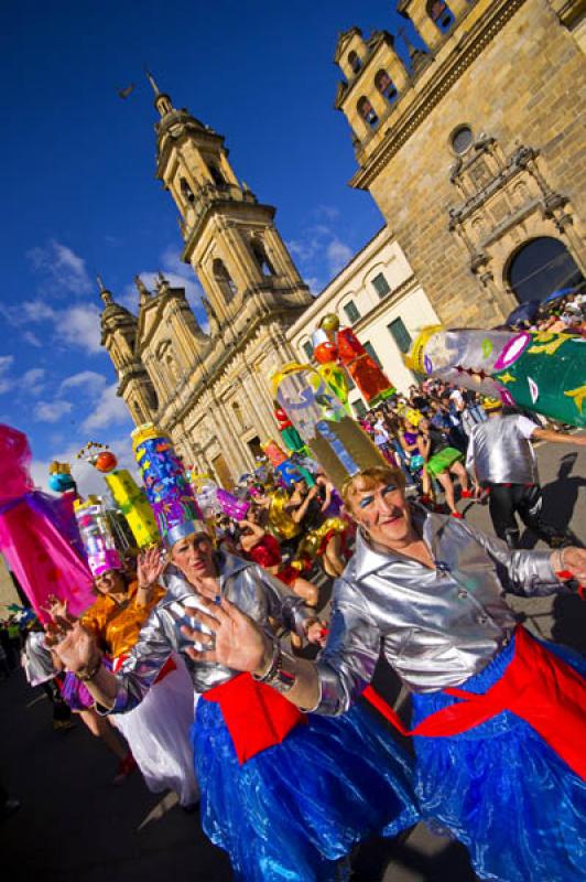
MULTIPOLYGON (((215 646, 210 649, 186 649, 194 662, 217 662, 234 670, 262 671, 267 656, 270 657, 270 639, 261 627, 230 601, 223 598, 219 604, 199 598, 208 612, 186 609, 185 614, 206 625, 215 635, 215 646)), ((194 643, 210 645, 213 638, 182 626, 182 633, 194 643)))

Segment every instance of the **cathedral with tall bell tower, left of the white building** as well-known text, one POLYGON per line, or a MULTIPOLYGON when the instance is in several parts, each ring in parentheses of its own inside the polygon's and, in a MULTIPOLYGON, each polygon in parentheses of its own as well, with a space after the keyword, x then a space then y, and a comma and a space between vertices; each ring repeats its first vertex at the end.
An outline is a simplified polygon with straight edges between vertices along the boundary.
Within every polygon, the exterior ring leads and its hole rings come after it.
POLYGON ((274 225, 239 183, 224 138, 155 90, 156 174, 181 215, 183 259, 204 289, 208 327, 181 288, 137 278, 138 315, 101 284, 101 343, 137 426, 155 421, 184 461, 231 486, 275 434, 269 375, 294 358, 286 329, 312 302, 274 225))

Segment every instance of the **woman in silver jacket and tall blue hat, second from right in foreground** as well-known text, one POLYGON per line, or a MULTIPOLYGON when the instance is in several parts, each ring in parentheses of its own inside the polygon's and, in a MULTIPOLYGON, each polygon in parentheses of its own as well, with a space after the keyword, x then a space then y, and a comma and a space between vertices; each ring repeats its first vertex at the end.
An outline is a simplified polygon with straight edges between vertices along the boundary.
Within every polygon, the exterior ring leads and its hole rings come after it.
MULTIPOLYGON (((340 860, 357 842, 419 819, 410 759, 361 708, 307 718, 250 675, 199 659, 194 643, 200 647, 211 632, 193 615, 206 599, 236 604, 267 634, 272 622, 317 641, 323 625, 261 567, 215 552, 200 521, 170 529, 166 540, 177 569, 121 670, 101 666, 79 625, 61 623, 67 633, 56 652, 113 713, 135 707, 173 650, 185 653, 202 693, 193 727, 202 825, 228 851, 235 879, 339 880, 340 860)), ((285 691, 286 674, 274 676, 285 691)))

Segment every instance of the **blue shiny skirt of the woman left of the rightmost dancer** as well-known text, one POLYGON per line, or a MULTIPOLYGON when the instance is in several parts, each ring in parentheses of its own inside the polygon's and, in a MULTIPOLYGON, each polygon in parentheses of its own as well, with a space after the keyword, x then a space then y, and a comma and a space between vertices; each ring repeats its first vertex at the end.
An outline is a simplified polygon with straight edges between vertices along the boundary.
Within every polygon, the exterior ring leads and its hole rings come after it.
POLYGON ((359 706, 310 714, 240 765, 219 706, 200 699, 193 741, 202 826, 236 880, 334 882, 357 842, 419 820, 410 757, 359 706))

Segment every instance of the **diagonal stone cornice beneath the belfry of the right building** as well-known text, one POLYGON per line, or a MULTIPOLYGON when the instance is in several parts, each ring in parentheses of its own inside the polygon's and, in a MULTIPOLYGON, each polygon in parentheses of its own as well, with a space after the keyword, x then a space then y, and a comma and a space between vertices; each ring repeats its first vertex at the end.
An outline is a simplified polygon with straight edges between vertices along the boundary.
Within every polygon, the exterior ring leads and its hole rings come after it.
MULTIPOLYGON (((386 131, 386 137, 365 165, 350 180, 350 186, 368 190, 389 160, 421 126, 430 111, 436 107, 452 86, 468 69, 525 0, 493 0, 471 30, 462 34, 457 51, 452 51, 441 67, 425 83, 415 100, 386 131)), ((440 52, 442 47, 440 47, 440 52)), ((425 67, 428 71, 428 65, 425 67)), ((423 72, 422 72, 423 73, 423 72)), ((417 82, 412 88, 416 92, 417 82)), ((406 94, 406 93, 404 93, 406 94)), ((400 104, 395 105, 395 114, 400 104)))

